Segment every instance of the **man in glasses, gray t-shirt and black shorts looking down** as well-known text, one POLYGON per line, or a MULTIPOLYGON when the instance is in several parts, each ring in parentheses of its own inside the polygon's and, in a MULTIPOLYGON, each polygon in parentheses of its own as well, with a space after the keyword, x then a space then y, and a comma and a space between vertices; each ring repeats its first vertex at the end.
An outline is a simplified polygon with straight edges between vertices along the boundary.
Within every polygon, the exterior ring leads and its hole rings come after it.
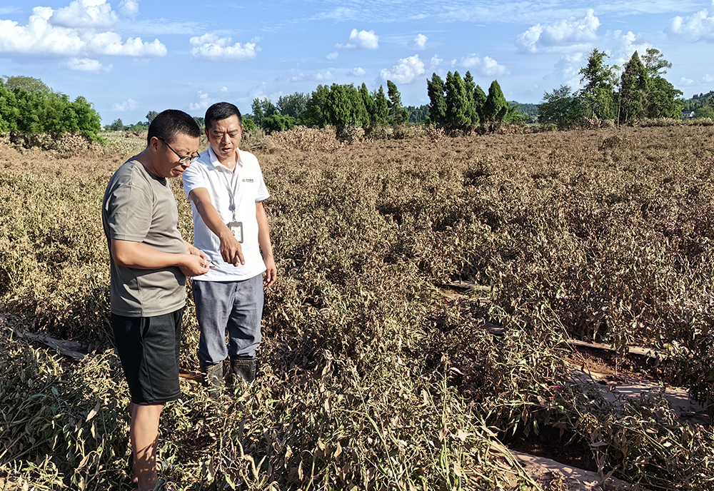
POLYGON ((111 262, 111 328, 129 384, 134 482, 153 490, 159 417, 181 397, 178 353, 186 276, 208 271, 207 256, 183 241, 168 178, 198 158, 201 130, 183 111, 159 113, 147 146, 109 180, 102 223, 111 262))

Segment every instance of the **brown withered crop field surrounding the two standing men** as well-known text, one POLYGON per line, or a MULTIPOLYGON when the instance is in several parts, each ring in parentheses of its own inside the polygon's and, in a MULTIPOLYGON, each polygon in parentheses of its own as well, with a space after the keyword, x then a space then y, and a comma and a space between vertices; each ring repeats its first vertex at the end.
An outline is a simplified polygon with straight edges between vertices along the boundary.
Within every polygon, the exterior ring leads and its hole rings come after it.
MULTIPOLYGON (((563 343, 658 348, 663 383, 710 398, 713 127, 280 138, 244 144, 272 194, 279 274, 261 375, 220 402, 182 378, 161 422, 167 490, 564 490, 500 442, 546 427, 603 476, 714 487, 710 427, 664 398, 615 411, 568 383, 563 343), (460 280, 476 288, 449 286, 460 280)), ((0 489, 131 489, 100 207, 133 143, 79 156, 0 145, 0 489)), ((195 372, 190 299, 184 338, 195 372)))

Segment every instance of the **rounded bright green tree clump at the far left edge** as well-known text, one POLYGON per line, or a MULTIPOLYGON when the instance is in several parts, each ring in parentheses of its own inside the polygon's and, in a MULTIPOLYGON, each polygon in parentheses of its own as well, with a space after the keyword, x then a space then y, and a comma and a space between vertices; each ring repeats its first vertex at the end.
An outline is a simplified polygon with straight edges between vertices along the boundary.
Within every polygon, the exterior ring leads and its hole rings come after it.
POLYGON ((99 138, 101 118, 86 98, 64 93, 27 76, 0 78, 0 133, 80 133, 99 138))

